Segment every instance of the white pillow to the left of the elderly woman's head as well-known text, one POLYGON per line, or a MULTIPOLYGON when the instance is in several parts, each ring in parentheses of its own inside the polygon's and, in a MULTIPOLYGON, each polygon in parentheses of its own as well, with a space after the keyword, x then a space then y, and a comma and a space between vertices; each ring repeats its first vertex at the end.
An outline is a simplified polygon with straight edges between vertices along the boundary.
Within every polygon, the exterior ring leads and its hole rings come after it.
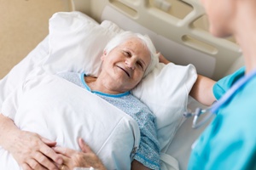
POLYGON ((80 12, 56 13, 49 20, 49 58, 44 68, 97 76, 103 48, 115 34, 80 12))

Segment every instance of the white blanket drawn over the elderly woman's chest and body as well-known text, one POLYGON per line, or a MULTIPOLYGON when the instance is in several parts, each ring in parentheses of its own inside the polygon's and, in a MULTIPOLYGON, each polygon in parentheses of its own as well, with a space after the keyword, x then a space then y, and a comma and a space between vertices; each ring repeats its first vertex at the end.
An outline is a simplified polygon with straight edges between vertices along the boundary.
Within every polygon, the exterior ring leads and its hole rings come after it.
MULTIPOLYGON (((140 139, 131 116, 72 82, 45 72, 36 75, 9 94, 3 115, 22 130, 74 150, 79 150, 77 139, 82 137, 108 169, 131 168, 131 150, 140 139)), ((0 169, 20 169, 2 148, 0 160, 0 169)))

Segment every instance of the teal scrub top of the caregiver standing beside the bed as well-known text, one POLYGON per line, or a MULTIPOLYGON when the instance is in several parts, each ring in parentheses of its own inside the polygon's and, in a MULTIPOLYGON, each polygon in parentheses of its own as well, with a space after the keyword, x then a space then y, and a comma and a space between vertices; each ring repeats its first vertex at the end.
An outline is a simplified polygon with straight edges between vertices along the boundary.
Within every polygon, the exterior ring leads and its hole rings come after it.
MULTIPOLYGON (((216 82, 220 99, 245 68, 216 82)), ((189 169, 256 169, 256 77, 246 82, 218 110, 217 116, 195 141, 189 169)))

